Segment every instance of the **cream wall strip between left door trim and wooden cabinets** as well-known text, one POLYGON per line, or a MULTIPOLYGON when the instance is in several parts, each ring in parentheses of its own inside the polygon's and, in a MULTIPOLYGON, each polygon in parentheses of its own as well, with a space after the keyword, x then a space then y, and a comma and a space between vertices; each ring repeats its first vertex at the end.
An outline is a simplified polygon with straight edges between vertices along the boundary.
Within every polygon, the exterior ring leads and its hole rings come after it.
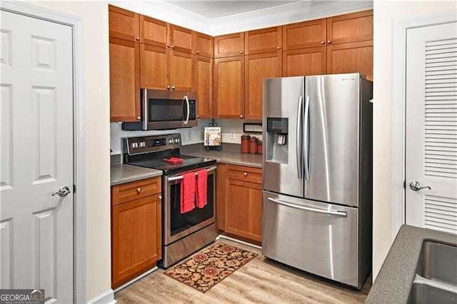
MULTIPOLYGON (((106 1, 31 1, 84 23, 86 102, 86 299, 111 288, 109 40, 106 1)), ((71 265, 69 265, 71 266, 71 265)))

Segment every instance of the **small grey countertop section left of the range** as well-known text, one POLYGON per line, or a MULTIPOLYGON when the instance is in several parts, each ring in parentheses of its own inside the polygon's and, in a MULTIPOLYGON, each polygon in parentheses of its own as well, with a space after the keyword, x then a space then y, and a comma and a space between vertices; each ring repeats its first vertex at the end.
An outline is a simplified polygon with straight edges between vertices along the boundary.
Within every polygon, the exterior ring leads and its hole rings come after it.
POLYGON ((161 175, 160 170, 124 164, 111 165, 111 186, 161 175))

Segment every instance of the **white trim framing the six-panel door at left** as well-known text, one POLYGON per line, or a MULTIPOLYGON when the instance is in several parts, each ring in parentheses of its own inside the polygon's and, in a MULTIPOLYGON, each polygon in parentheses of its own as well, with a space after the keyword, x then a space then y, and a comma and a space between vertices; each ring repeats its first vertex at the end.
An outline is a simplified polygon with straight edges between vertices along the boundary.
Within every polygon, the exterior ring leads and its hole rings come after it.
POLYGON ((1 1, 0 9, 71 26, 74 71, 74 303, 86 302, 86 138, 83 21, 59 11, 19 1, 1 1))

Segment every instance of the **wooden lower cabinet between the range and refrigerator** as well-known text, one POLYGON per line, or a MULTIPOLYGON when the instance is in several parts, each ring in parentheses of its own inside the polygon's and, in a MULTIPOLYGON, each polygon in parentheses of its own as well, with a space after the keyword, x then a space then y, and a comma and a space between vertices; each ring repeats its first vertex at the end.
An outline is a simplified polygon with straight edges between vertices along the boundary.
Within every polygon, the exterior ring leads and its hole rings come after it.
MULTIPOLYGON (((222 173, 224 173, 225 194, 223 230, 231 235, 260 243, 262 239, 261 169, 228 165, 222 173)), ((219 166, 218 178, 221 178, 219 166)))

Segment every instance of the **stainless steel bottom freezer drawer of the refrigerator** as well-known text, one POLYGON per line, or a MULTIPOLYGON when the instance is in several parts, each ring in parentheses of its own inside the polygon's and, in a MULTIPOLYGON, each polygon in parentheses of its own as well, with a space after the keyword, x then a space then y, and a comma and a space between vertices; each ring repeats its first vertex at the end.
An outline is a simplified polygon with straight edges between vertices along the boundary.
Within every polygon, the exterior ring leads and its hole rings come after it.
POLYGON ((360 288, 358 208, 263 191, 262 253, 360 288))

